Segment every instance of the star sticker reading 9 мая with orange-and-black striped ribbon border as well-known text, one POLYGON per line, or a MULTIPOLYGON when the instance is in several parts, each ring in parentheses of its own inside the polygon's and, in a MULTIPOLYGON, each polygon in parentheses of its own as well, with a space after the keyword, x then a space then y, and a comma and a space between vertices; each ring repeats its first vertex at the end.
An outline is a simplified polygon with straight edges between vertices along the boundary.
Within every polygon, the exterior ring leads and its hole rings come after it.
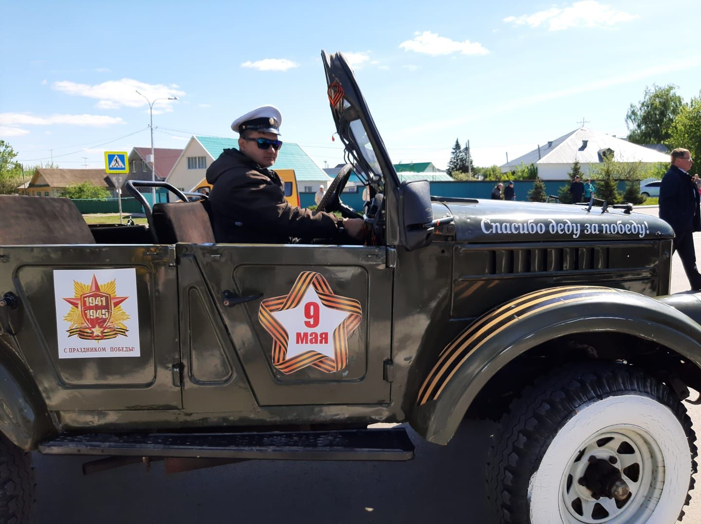
POLYGON ((360 302, 335 295, 326 278, 299 274, 287 295, 261 302, 258 319, 273 337, 273 365, 285 374, 311 366, 326 373, 348 365, 348 337, 360 325, 360 302))

